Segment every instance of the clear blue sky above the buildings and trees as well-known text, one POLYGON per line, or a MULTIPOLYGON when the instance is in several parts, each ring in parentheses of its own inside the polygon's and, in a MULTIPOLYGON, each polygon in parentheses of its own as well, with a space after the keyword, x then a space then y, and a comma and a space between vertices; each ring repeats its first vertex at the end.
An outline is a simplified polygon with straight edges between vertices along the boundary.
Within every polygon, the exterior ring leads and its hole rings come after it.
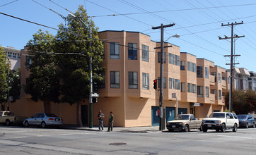
MULTIPOLYGON (((214 61, 223 68, 229 68, 226 63, 230 63, 230 58, 223 55, 231 54, 231 42, 219 40, 218 36, 231 37, 231 27, 223 27, 221 23, 243 21, 234 27, 234 34, 245 35, 235 41, 235 54, 241 55, 235 58, 235 63, 240 63, 236 65, 239 68, 256 72, 256 1, 253 0, 1 0, 0 12, 57 28, 64 23, 61 16, 69 14, 64 8, 75 12, 78 5, 86 8, 100 31, 143 32, 156 42, 160 41, 160 30, 152 27, 175 23, 165 28, 164 36, 167 39, 179 34, 180 38, 170 38, 168 42, 180 46, 182 52, 214 61)), ((57 32, 2 14, 0 20, 1 46, 23 49, 37 30, 48 30, 53 35, 57 32)))

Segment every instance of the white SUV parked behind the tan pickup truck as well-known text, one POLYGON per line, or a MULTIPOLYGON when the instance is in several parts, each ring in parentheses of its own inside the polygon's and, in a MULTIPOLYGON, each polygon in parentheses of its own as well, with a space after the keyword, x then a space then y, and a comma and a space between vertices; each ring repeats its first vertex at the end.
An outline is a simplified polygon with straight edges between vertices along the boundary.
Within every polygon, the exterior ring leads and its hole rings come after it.
POLYGON ((236 132, 239 127, 238 116, 235 113, 228 112, 214 112, 211 113, 209 118, 204 118, 202 120, 202 130, 207 132, 207 130, 216 130, 216 132, 226 132, 226 129, 231 128, 233 132, 236 132))

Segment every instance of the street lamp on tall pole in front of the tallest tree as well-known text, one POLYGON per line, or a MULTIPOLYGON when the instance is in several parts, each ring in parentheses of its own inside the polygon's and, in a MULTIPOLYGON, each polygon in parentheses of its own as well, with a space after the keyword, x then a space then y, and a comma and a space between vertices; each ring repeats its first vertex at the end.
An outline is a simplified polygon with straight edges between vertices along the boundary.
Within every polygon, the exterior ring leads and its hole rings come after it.
MULTIPOLYGON (((69 18, 77 18, 73 13, 69 13, 69 18)), ((92 32, 91 32, 91 25, 87 25, 86 23, 84 23, 83 20, 81 20, 81 18, 78 18, 78 20, 81 21, 81 23, 83 23, 83 25, 86 25, 86 27, 88 27, 89 29, 89 39, 90 39, 90 49, 91 49, 91 38, 92 38, 92 32)), ((91 52, 91 51, 90 51, 91 52)), ((89 68, 90 68, 90 85, 91 85, 91 89, 90 89, 90 94, 89 94, 89 128, 93 128, 93 99, 92 99, 92 94, 93 94, 93 67, 92 67, 92 57, 90 56, 90 61, 89 61, 89 68)))

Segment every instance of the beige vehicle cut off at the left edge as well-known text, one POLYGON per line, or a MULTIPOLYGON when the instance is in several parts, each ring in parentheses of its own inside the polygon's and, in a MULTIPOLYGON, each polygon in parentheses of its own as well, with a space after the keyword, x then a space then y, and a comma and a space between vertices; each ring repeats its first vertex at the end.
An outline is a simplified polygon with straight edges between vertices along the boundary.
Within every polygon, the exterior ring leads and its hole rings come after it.
POLYGON ((10 111, 0 111, 0 123, 5 123, 6 126, 11 123, 22 124, 26 117, 15 116, 10 111))

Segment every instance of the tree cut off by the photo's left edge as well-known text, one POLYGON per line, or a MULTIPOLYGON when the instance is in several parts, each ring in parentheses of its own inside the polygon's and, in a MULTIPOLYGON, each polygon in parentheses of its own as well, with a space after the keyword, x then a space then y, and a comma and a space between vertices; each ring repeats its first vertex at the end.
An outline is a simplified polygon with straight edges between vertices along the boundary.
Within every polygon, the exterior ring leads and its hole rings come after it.
POLYGON ((6 52, 0 46, 0 103, 1 110, 4 110, 4 102, 7 99, 7 63, 6 52))

